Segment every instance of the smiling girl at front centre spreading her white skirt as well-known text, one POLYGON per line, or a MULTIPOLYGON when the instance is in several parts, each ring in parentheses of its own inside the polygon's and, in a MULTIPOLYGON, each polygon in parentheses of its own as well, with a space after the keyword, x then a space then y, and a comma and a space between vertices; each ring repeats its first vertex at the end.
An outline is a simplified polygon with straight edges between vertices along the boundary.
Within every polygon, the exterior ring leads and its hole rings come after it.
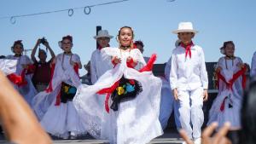
POLYGON ((155 57, 145 66, 141 52, 132 49, 132 39, 131 27, 120 28, 119 48, 102 49, 102 55, 112 57, 114 68, 96 84, 81 85, 73 100, 90 135, 108 139, 111 144, 144 144, 162 135, 161 81, 151 72, 155 57), (96 93, 107 94, 105 103, 96 101, 96 93))

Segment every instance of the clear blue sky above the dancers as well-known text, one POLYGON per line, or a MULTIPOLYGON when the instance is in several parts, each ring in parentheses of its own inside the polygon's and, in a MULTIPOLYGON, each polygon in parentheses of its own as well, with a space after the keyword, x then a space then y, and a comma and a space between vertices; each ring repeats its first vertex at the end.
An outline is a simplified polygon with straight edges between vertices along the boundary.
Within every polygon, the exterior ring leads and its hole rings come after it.
MULTIPOLYGON (((0 17, 32 14, 58 9, 83 7, 114 0, 1 0, 0 17)), ((119 27, 131 26, 135 39, 143 40, 144 55, 158 55, 156 63, 164 63, 172 55, 177 39, 173 30, 180 21, 191 21, 199 33, 194 42, 201 45, 207 61, 216 61, 224 41, 233 40, 236 55, 251 63, 256 50, 256 1, 255 0, 130 0, 91 8, 75 9, 73 16, 67 11, 17 18, 15 25, 9 19, 0 20, 0 55, 10 55, 15 40, 22 39, 25 49, 32 49, 39 37, 46 37, 55 54, 61 53, 58 41, 67 34, 73 36, 73 53, 83 64, 90 60, 96 49, 96 26, 102 26, 116 36, 119 27)), ((113 38, 111 46, 118 43, 113 38)), ((30 55, 30 53, 28 54, 30 55)), ((84 70, 83 70, 84 72, 84 70)), ((83 73, 82 72, 82 73, 83 73)))

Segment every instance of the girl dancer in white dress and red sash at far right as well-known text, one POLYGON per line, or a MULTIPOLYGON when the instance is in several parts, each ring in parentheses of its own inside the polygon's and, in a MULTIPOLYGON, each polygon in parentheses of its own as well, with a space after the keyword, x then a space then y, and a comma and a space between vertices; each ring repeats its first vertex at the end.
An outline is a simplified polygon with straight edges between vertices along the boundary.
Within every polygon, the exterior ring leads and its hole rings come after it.
POLYGON ((235 44, 232 41, 224 42, 221 52, 225 56, 218 60, 216 69, 218 95, 212 103, 208 124, 218 122, 218 127, 221 128, 228 121, 231 124, 230 130, 234 134, 241 129, 240 111, 247 66, 239 57, 234 56, 235 44))

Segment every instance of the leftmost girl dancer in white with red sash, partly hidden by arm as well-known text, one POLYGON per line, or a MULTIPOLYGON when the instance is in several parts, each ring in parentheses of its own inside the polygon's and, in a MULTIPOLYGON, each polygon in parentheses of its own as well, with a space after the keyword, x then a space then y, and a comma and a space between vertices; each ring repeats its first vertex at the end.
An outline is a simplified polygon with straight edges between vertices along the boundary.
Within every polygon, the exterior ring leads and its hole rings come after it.
POLYGON ((37 89, 35 89, 32 84, 32 61, 28 56, 22 55, 24 48, 21 40, 15 41, 11 49, 15 55, 8 55, 6 59, 17 60, 15 75, 20 76, 20 78, 8 78, 14 85, 15 89, 20 92, 20 95, 22 95, 26 102, 32 106, 32 99, 38 94, 37 89))

